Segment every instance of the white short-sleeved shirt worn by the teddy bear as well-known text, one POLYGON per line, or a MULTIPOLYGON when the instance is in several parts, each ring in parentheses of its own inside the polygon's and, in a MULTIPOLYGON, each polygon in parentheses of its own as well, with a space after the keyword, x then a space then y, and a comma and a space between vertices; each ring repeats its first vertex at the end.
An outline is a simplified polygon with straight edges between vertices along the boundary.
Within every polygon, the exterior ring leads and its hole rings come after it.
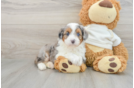
POLYGON ((113 46, 121 43, 121 39, 105 25, 91 24, 85 29, 89 34, 86 40, 88 44, 112 50, 113 46))

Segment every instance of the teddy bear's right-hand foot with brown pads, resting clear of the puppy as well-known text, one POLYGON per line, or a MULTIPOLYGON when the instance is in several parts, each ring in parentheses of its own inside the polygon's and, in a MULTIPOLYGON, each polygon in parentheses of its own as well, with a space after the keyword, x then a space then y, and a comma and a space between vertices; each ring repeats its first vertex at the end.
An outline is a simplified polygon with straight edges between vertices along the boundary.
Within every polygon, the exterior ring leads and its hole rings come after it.
POLYGON ((104 73, 118 73, 124 71, 126 65, 126 60, 122 56, 104 55, 94 61, 93 68, 104 73))

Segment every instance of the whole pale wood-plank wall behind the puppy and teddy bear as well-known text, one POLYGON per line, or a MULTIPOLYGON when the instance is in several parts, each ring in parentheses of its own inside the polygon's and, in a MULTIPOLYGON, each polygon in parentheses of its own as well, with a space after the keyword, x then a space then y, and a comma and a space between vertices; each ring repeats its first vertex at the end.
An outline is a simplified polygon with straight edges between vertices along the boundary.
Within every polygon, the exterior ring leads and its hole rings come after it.
MULTIPOLYGON (((133 59, 133 4, 119 0, 122 10, 114 32, 128 49, 133 59)), ((46 43, 54 43, 61 27, 79 22, 81 0, 1 0, 2 58, 35 58, 46 43)))

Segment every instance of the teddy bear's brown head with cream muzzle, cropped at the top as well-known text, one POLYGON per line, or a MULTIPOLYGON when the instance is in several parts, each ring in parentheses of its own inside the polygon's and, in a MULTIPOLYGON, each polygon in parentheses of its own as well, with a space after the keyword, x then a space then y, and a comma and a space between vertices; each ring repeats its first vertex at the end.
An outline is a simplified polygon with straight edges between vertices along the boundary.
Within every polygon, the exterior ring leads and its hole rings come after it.
POLYGON ((114 29, 119 21, 120 9, 120 4, 116 0, 83 0, 79 13, 80 22, 84 26, 101 24, 114 29))

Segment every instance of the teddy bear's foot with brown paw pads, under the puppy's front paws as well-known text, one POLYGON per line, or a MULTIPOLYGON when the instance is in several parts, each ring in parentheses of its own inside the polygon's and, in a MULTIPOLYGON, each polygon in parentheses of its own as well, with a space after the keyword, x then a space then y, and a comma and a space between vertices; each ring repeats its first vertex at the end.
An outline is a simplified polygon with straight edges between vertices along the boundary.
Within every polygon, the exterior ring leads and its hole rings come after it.
POLYGON ((62 56, 59 56, 57 60, 55 60, 54 67, 63 73, 78 73, 86 70, 85 64, 82 64, 81 66, 73 65, 68 59, 62 56))

